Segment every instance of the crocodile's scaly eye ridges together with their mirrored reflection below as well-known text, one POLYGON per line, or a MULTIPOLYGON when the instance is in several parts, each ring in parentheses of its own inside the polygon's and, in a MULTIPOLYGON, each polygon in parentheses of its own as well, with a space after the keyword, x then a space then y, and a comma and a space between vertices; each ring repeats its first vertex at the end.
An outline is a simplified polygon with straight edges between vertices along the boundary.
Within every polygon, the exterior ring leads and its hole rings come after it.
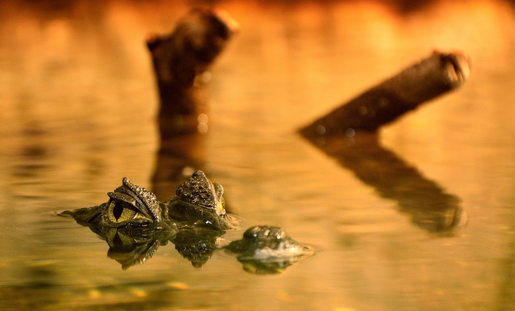
POLYGON ((167 203, 124 178, 106 203, 59 213, 89 227, 109 245, 108 257, 127 269, 151 258, 168 241, 195 267, 201 267, 221 245, 224 230, 235 228, 228 216, 224 188, 202 171, 177 188, 167 203))

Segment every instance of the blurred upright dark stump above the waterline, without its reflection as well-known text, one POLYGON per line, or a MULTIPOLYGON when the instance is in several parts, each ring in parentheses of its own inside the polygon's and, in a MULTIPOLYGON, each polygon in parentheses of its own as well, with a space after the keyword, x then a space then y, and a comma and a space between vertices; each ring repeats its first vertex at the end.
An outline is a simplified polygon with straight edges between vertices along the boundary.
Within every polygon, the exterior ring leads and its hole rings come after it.
POLYGON ((236 30, 237 23, 227 13, 195 8, 171 34, 148 36, 161 98, 158 120, 163 138, 206 130, 201 122, 205 118, 199 118, 206 115, 206 101, 194 82, 236 30))

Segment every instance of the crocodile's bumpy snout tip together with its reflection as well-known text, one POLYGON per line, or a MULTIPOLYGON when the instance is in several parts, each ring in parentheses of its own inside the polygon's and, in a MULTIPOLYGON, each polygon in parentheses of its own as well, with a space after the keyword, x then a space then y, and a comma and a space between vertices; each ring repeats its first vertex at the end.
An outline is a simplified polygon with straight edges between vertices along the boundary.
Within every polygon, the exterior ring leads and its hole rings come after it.
POLYGON ((278 227, 254 226, 233 241, 226 251, 236 256, 245 271, 258 274, 283 272, 297 260, 311 256, 313 250, 291 239, 278 227))

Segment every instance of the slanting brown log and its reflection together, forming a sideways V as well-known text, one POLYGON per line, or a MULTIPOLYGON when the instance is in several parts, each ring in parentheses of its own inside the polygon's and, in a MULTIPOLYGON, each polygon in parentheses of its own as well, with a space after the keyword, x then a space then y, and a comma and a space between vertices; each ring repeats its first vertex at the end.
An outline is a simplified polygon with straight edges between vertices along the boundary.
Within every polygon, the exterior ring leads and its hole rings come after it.
POLYGON ((300 130, 342 167, 394 199, 418 227, 438 236, 453 235, 467 221, 459 198, 425 178, 379 143, 377 129, 445 92, 470 75, 470 59, 460 52, 433 54, 372 87, 300 130))

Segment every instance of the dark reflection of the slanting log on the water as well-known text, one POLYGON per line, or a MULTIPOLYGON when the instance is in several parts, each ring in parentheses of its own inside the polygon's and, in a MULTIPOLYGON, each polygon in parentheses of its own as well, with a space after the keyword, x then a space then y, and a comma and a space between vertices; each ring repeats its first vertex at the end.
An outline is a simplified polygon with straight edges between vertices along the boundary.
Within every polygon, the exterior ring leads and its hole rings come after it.
POLYGON ((304 137, 381 197, 396 200, 399 211, 409 214, 411 222, 421 229, 436 236, 452 236, 466 223, 459 198, 445 193, 435 181, 382 147, 377 132, 349 129, 344 135, 304 137))

